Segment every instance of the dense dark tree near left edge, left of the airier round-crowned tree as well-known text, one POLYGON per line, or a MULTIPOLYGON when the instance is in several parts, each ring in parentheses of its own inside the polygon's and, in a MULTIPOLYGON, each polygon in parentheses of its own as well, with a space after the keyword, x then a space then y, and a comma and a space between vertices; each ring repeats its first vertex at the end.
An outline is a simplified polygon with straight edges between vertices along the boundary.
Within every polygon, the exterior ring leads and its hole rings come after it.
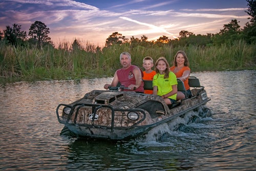
POLYGON ((21 44, 24 42, 24 40, 27 37, 27 33, 24 31, 20 31, 22 28, 21 25, 13 24, 12 27, 9 25, 6 26, 6 30, 4 30, 5 39, 8 41, 8 43, 12 45, 21 44))

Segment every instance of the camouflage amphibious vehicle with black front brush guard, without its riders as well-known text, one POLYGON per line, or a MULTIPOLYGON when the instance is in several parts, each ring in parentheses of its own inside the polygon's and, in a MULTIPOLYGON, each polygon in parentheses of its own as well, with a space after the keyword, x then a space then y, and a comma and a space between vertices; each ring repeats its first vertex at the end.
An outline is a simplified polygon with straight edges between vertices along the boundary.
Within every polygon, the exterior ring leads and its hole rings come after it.
MULTIPOLYGON (((177 81, 178 91, 185 91, 183 82, 177 81)), ((59 104, 56 114, 59 123, 78 137, 133 139, 210 101, 196 77, 189 78, 189 85, 193 95, 173 105, 166 105, 158 95, 124 91, 120 86, 93 90, 71 104, 59 104)), ((153 89, 152 81, 144 80, 144 89, 153 89)))

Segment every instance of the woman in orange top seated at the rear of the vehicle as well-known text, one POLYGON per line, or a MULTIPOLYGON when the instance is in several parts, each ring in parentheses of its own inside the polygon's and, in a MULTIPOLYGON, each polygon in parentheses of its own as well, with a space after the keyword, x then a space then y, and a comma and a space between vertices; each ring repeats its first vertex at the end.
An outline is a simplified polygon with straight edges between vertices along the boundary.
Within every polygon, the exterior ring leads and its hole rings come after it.
MULTIPOLYGON (((174 66, 170 70, 174 72, 177 79, 183 81, 188 97, 191 97, 190 87, 188 85, 188 78, 190 76, 190 68, 187 55, 184 51, 178 51, 174 57, 174 66)), ((185 98, 185 94, 181 91, 177 92, 177 101, 185 98)))

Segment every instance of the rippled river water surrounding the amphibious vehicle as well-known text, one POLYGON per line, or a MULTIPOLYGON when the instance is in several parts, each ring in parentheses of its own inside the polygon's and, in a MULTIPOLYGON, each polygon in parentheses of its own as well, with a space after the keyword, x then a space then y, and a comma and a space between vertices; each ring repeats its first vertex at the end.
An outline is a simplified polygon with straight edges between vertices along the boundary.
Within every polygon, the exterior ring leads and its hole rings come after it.
POLYGON ((205 86, 212 114, 161 140, 60 135, 57 105, 103 89, 112 78, 2 85, 0 170, 255 170, 256 70, 191 76, 205 86))

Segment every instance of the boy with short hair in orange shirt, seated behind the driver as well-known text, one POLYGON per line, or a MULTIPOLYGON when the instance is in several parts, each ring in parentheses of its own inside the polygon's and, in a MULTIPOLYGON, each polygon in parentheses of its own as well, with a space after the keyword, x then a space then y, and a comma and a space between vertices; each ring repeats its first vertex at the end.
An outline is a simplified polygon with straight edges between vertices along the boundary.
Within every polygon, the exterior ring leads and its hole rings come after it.
MULTIPOLYGON (((143 71, 143 80, 153 80, 154 76, 156 75, 156 71, 152 70, 154 66, 154 61, 151 57, 145 57, 143 59, 143 67, 145 71, 143 71)), ((153 94, 153 90, 144 90, 145 94, 153 94)))

